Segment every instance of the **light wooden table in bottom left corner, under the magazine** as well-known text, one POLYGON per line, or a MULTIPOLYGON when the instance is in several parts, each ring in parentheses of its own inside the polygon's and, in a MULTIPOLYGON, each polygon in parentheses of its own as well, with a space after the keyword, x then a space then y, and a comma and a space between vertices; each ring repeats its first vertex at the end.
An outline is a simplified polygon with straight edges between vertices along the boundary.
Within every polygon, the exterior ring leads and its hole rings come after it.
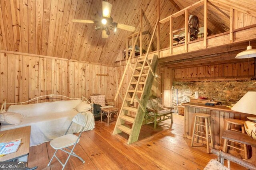
POLYGON ((31 127, 26 126, 26 127, 20 127, 17 129, 11 129, 7 131, 0 131, 0 134, 2 133, 4 134, 2 135, 2 137, 0 137, 0 143, 13 141, 15 139, 21 138, 21 144, 18 150, 14 153, 6 154, 0 157, 1 162, 16 160, 18 158, 28 155, 29 145, 30 145, 30 130, 31 130, 31 127))

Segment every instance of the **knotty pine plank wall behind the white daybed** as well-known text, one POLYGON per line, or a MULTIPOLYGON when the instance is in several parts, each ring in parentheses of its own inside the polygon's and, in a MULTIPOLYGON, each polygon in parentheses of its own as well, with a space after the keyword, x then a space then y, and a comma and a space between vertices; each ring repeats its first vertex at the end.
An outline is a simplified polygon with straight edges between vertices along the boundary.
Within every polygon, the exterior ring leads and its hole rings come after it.
POLYGON ((74 61, 0 53, 0 102, 23 102, 45 94, 114 98, 115 70, 74 61), (106 75, 97 75, 106 74, 106 75))

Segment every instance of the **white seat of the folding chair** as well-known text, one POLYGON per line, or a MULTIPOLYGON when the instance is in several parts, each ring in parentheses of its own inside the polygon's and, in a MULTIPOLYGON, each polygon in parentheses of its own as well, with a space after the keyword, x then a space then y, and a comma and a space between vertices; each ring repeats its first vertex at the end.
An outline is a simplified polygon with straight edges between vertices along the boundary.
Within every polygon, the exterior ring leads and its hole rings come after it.
MULTIPOLYGON (((78 138, 78 136, 76 136, 76 135, 67 134, 67 135, 53 139, 52 141, 50 141, 50 145, 55 150, 66 148, 66 147, 74 145, 76 143, 77 138, 78 138)), ((78 142, 79 142, 79 139, 78 139, 78 142)))

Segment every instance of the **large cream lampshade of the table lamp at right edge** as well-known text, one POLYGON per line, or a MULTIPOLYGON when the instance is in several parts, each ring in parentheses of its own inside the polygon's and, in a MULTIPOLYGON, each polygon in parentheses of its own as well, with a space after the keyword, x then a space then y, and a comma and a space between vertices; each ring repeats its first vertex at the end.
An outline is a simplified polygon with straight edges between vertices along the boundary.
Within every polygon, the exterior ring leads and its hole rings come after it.
POLYGON ((231 110, 256 115, 256 92, 247 92, 231 110))

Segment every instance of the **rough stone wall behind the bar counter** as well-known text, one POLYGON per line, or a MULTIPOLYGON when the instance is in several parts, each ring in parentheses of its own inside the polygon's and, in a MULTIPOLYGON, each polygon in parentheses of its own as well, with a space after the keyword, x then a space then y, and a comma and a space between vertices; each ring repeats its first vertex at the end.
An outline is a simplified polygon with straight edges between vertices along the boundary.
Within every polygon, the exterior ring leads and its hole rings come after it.
POLYGON ((176 104, 176 89, 178 89, 179 103, 189 102, 190 98, 195 97, 195 91, 198 91, 199 96, 206 96, 230 106, 246 92, 256 91, 256 81, 173 82, 173 87, 172 104, 176 104))

